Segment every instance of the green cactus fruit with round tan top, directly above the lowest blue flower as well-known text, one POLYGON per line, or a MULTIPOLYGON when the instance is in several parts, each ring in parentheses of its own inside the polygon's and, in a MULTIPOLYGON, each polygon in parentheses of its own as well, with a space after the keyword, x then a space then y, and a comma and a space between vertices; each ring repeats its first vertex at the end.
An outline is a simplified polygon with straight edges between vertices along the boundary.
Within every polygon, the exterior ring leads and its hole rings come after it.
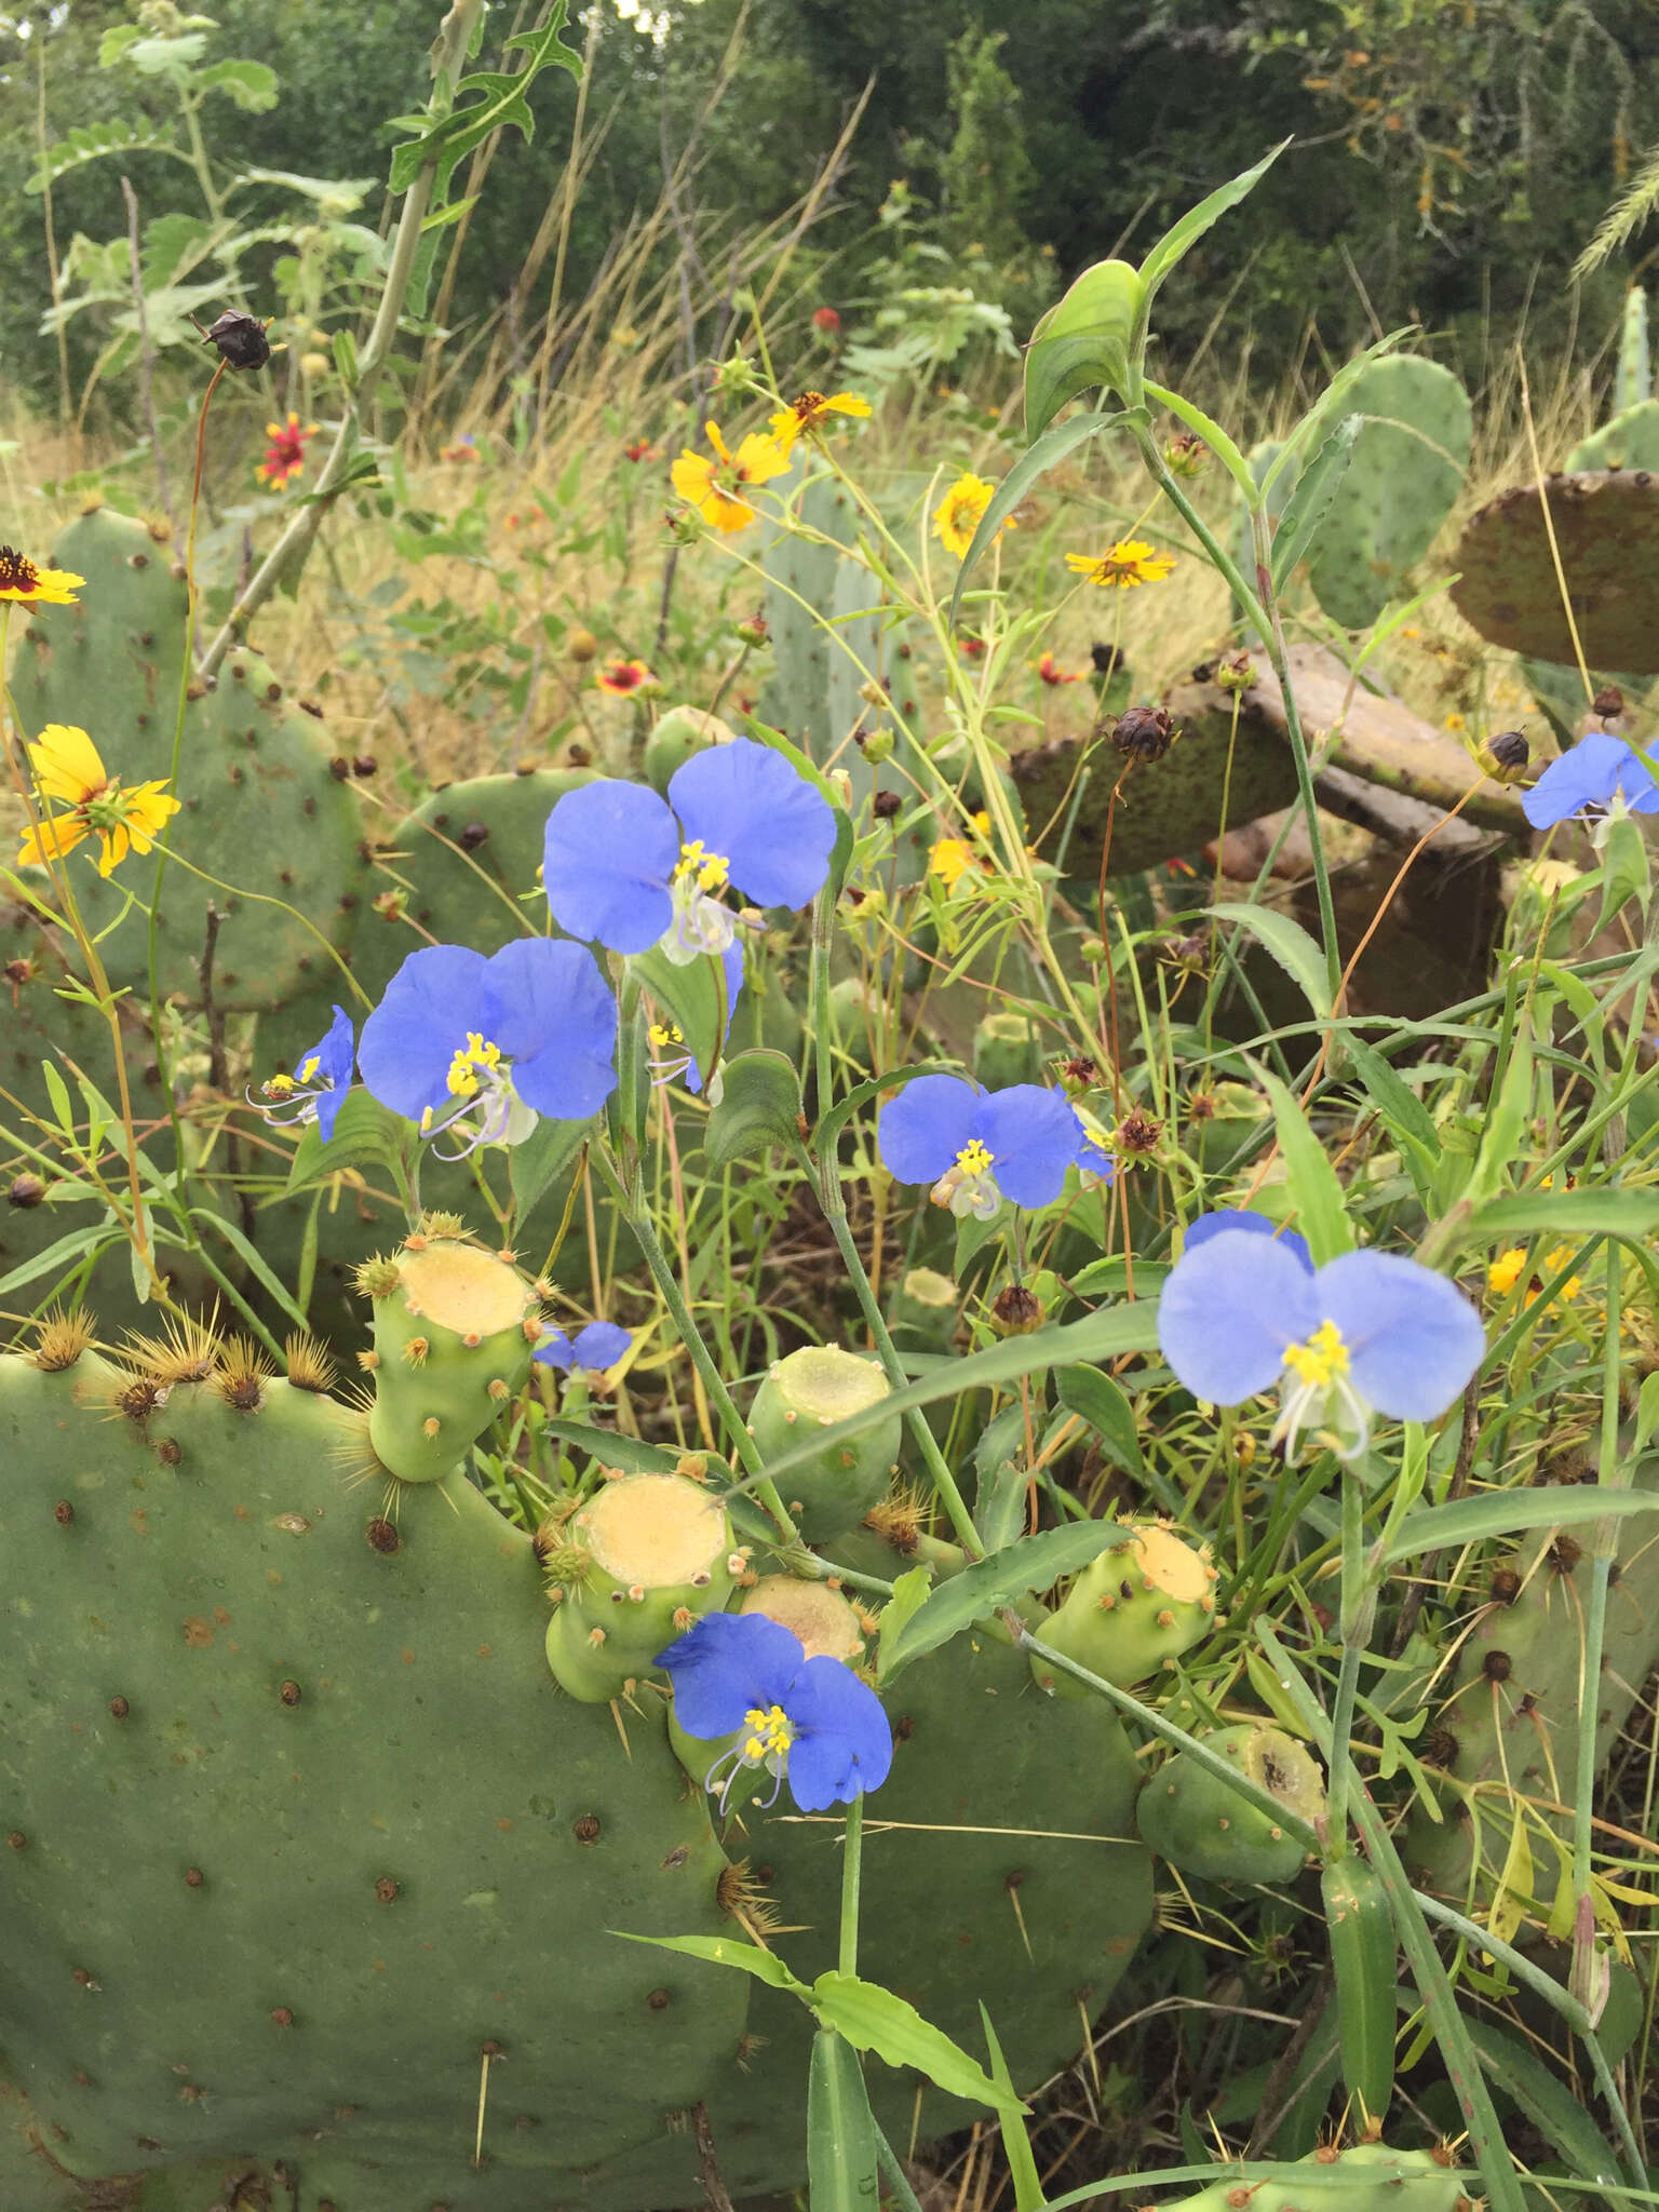
POLYGON ((688 1475, 619 1475, 540 1535, 546 1663, 584 1703, 622 1697, 748 1573, 719 1498, 688 1475))

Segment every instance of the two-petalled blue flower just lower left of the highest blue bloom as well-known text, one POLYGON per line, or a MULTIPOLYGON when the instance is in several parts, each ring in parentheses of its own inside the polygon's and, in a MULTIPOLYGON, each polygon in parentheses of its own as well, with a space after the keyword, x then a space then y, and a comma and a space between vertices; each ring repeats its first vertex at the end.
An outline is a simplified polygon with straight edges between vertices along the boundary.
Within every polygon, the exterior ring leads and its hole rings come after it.
POLYGON ((580 945, 518 938, 409 953, 363 1024, 363 1082, 422 1137, 522 1144, 540 1115, 586 1121, 617 1084, 617 1002, 580 945))

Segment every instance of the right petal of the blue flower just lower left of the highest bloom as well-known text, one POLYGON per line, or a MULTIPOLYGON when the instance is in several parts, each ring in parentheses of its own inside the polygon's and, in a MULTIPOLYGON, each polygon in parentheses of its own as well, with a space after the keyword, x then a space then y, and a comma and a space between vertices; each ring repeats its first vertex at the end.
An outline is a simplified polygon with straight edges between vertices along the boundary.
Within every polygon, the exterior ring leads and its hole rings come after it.
POLYGON ((582 945, 502 945, 489 962, 484 1004, 487 1033, 513 1062, 513 1091, 535 1113, 586 1121, 617 1088, 617 1002, 582 945))

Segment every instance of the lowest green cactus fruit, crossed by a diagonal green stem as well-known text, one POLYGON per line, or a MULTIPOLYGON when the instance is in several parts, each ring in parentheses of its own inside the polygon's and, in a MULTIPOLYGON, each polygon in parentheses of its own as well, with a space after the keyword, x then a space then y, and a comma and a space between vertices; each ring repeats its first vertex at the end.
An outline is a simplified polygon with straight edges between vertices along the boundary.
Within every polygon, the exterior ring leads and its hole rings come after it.
MULTIPOLYGON (((1197 1736, 1245 1781, 1276 1796, 1285 1812, 1316 1820, 1325 1812, 1318 1767, 1283 1728, 1217 1728, 1197 1736)), ((1141 1843, 1181 1874, 1212 1882, 1287 1882, 1307 1856, 1296 1836, 1237 1796, 1190 1752, 1166 1759, 1135 1801, 1141 1843)))

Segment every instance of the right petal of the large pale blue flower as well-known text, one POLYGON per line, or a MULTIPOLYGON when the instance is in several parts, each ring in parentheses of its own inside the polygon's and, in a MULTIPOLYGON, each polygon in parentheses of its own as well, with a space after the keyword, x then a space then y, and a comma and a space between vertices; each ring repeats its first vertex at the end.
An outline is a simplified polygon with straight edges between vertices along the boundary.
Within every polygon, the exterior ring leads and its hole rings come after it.
POLYGON ((1354 1389, 1380 1413, 1433 1420, 1486 1352, 1458 1285, 1396 1252, 1343 1252, 1318 1270, 1314 1292, 1321 1318, 1347 1340, 1354 1389))

